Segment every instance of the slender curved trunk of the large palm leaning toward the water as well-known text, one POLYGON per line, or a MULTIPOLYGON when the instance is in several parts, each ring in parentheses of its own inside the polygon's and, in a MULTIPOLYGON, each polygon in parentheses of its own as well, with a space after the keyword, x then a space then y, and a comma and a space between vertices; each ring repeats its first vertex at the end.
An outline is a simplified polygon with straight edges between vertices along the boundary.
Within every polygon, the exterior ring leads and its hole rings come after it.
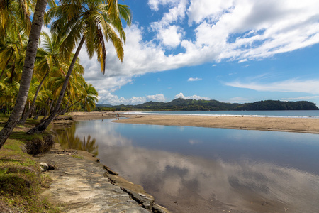
POLYGON ((84 43, 84 38, 82 38, 82 40, 80 41, 79 46, 77 47, 77 51, 75 52, 74 57, 72 59, 71 65, 69 65, 69 70, 67 70, 67 75, 65 76, 65 82, 63 83, 59 98, 57 99, 57 102, 55 103, 55 109, 52 111, 50 116, 45 121, 43 121, 38 126, 33 127, 33 129, 30 129, 27 132, 27 134, 40 133, 42 131, 45 131, 45 129, 47 129, 47 126, 49 126, 49 124, 53 121, 53 119, 55 119, 55 116, 57 115, 57 111, 59 111, 60 109, 62 99, 63 97, 65 97, 65 91, 67 90, 67 83, 69 82, 69 77, 71 76, 73 67, 77 60, 77 57, 79 56, 79 51, 81 50, 83 43, 84 43))

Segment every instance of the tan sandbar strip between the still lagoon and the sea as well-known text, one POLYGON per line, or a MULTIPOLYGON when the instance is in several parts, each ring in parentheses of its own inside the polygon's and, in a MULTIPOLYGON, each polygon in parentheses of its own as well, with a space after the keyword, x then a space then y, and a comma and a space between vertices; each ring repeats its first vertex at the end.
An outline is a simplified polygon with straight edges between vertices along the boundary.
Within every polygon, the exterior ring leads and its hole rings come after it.
POLYGON ((247 129, 264 131, 291 131, 319 133, 319 119, 274 118, 250 116, 184 116, 184 115, 130 115, 114 121, 127 124, 156 124, 169 126, 201 126, 211 128, 247 129))

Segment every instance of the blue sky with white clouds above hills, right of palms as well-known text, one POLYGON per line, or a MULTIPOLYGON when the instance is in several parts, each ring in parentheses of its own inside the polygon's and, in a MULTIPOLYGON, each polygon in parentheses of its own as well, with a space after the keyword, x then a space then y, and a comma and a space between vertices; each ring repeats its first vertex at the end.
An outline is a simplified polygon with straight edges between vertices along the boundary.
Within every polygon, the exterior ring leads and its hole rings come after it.
POLYGON ((319 107, 318 0, 118 0, 130 6, 123 62, 107 43, 106 73, 85 48, 98 104, 176 98, 319 107))

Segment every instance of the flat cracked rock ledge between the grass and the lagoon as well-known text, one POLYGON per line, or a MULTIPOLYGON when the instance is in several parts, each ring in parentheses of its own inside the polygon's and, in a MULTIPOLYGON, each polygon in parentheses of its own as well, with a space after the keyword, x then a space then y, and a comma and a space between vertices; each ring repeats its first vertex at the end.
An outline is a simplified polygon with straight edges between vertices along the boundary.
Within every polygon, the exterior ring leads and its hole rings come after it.
POLYGON ((63 150, 55 143, 35 160, 48 165, 44 173, 52 178, 43 196, 62 212, 169 212, 142 186, 125 180, 86 151, 63 150))

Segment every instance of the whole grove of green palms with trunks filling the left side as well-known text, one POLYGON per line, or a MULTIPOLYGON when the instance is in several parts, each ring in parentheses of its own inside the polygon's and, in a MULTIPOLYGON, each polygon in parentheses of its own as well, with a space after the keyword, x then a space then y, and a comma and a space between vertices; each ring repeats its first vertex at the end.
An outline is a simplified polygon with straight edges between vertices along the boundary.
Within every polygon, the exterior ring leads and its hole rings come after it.
POLYGON ((28 131, 38 133, 67 110, 94 109, 98 92, 84 80, 79 51, 84 45, 90 58, 96 54, 103 74, 106 42, 123 61, 122 20, 130 26, 131 13, 117 0, 0 0, 0 112, 10 114, 0 148, 28 118, 43 116, 28 131))

